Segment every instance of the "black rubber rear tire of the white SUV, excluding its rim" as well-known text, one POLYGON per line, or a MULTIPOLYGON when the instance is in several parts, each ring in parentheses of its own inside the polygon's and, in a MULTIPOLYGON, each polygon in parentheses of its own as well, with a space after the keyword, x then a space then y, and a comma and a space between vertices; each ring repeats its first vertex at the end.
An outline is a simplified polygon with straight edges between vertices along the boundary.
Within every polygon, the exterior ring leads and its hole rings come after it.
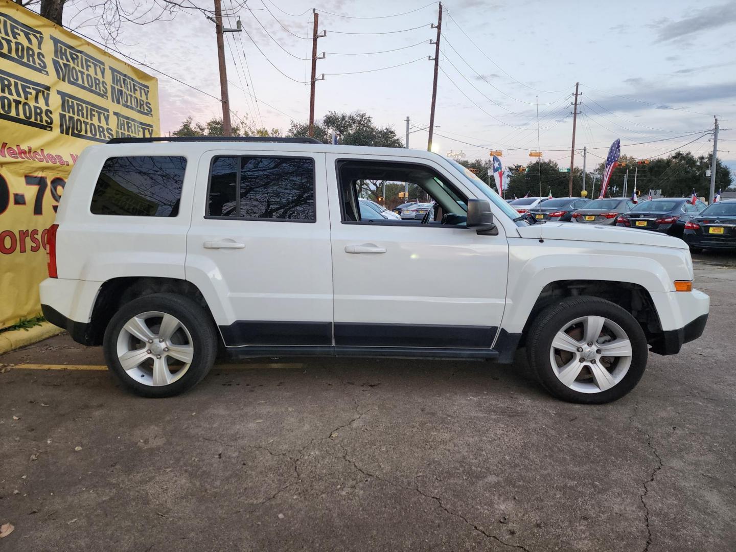
POLYGON ((116 375, 118 381, 141 397, 153 398, 172 397, 191 389, 202 381, 214 363, 217 344, 216 328, 210 314, 199 303, 172 293, 146 295, 123 305, 107 325, 103 341, 107 367, 116 375), (187 371, 168 385, 150 386, 135 381, 125 372, 118 359, 117 342, 122 328, 133 316, 148 311, 171 314, 179 319, 188 330, 191 345, 194 347, 194 354, 187 371))

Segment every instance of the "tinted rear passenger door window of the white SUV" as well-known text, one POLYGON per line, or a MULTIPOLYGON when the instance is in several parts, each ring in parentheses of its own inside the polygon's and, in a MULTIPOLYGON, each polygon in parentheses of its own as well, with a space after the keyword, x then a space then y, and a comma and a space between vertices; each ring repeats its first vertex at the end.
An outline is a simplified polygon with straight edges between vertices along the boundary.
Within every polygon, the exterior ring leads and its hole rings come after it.
POLYGON ((207 213, 314 221, 314 160, 217 157, 210 170, 207 213))

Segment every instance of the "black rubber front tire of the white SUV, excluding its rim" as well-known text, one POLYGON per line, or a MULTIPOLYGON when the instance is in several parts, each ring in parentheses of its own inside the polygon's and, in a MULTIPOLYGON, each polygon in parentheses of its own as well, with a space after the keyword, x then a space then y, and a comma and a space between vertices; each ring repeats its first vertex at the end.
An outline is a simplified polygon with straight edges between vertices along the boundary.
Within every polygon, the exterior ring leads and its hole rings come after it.
POLYGON ((618 400, 637 385, 646 368, 648 346, 639 322, 620 306, 598 297, 571 297, 545 308, 528 331, 526 353, 539 382, 554 397, 570 403, 603 404, 618 400), (621 381, 606 391, 584 393, 559 381, 551 365, 550 350, 556 333, 581 316, 604 316, 615 322, 631 342, 631 364, 621 381))

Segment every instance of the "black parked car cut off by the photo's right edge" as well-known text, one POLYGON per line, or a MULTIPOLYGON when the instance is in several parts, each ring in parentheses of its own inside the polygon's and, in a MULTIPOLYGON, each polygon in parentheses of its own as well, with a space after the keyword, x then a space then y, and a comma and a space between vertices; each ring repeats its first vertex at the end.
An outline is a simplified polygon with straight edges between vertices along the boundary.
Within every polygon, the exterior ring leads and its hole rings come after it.
POLYGON ((682 239, 690 251, 736 250, 736 199, 708 205, 685 222, 682 239))

